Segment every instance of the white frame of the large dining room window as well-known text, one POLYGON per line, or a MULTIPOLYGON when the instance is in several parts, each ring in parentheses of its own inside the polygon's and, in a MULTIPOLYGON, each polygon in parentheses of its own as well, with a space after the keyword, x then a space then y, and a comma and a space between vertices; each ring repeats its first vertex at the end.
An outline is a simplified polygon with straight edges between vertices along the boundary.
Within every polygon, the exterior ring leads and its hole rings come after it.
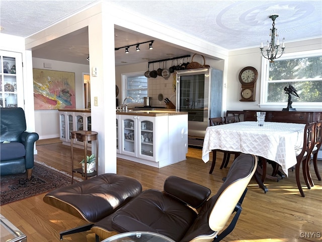
MULTIPOLYGON (((321 50, 309 50, 293 53, 284 53, 279 60, 291 59, 291 58, 301 58, 301 57, 314 57, 320 56, 321 50)), ((261 108, 266 109, 282 109, 287 106, 287 102, 267 102, 267 82, 269 75, 269 60, 262 57, 262 75, 261 75, 261 97, 260 104, 261 108)), ((286 95, 286 94, 285 94, 286 95)), ((312 110, 312 111, 322 111, 322 102, 293 102, 292 107, 299 110, 312 110)))

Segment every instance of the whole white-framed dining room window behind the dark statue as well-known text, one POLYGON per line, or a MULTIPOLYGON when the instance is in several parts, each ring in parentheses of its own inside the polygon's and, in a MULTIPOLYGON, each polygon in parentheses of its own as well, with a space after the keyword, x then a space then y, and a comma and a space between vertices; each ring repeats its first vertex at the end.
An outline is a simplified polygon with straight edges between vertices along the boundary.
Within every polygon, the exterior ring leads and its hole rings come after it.
POLYGON ((283 54, 270 63, 263 61, 261 107, 280 107, 287 104, 284 88, 296 89, 293 107, 320 108, 322 105, 322 55, 317 51, 283 54))

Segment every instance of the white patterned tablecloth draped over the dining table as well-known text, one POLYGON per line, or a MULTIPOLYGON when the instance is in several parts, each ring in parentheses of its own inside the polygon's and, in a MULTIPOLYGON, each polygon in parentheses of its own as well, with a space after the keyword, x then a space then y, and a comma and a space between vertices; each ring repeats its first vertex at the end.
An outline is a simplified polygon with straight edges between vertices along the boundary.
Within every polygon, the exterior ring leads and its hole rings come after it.
POLYGON ((295 149, 303 146, 304 124, 239 122, 206 129, 202 160, 209 160, 211 150, 239 151, 273 160, 288 175, 296 164, 295 149))

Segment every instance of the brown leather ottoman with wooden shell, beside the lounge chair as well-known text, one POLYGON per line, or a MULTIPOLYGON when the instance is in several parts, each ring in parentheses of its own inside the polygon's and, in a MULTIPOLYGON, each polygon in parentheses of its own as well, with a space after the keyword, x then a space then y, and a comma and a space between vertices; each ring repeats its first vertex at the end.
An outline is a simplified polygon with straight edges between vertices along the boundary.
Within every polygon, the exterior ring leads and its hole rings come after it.
POLYGON ((43 201, 91 224, 60 232, 63 235, 90 230, 94 222, 110 215, 142 192, 138 180, 113 173, 101 174, 45 195, 43 201))

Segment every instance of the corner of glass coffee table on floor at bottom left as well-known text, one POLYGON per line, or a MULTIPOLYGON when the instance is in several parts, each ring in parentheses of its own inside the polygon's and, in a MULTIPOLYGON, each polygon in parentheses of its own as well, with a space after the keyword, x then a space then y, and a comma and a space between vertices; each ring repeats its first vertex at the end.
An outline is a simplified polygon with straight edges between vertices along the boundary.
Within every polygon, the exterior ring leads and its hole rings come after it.
POLYGON ((0 241, 26 242, 27 236, 0 214, 0 241))

